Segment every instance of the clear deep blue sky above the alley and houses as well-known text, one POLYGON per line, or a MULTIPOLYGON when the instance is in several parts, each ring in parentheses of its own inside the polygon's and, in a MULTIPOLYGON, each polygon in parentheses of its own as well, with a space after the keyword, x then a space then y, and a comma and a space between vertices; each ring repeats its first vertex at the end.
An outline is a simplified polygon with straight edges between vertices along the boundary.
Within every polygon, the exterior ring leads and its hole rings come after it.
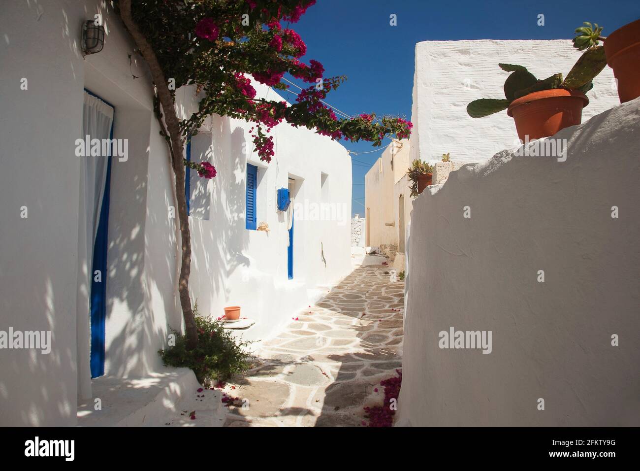
MULTIPOLYGON (((568 39, 583 21, 604 26, 607 35, 639 17, 640 0, 318 0, 292 28, 307 43, 303 60, 322 62, 326 76, 348 77, 328 95, 328 103, 348 115, 375 112, 411 119, 417 42, 568 39), (391 13, 397 15, 397 26, 389 25, 391 13), (545 15, 545 26, 537 25, 538 13, 545 15)), ((380 149, 340 142, 355 152, 380 149)), ((353 213, 364 215, 364 175, 380 153, 353 156, 358 160, 353 161, 353 213)))

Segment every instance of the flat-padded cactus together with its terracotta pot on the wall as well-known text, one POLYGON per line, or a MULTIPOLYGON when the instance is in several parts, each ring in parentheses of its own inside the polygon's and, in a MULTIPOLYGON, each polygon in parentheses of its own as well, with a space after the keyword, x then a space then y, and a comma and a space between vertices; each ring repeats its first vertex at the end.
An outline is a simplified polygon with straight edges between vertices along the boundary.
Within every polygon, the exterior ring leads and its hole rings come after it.
POLYGON ((499 66, 511 72, 504 82, 505 99, 472 101, 468 115, 481 118, 507 110, 520 140, 539 139, 580 124, 582 108, 589 104, 585 92, 593 88, 593 78, 605 66, 604 48, 596 46, 582 54, 564 80, 562 74, 539 80, 522 65, 499 66))

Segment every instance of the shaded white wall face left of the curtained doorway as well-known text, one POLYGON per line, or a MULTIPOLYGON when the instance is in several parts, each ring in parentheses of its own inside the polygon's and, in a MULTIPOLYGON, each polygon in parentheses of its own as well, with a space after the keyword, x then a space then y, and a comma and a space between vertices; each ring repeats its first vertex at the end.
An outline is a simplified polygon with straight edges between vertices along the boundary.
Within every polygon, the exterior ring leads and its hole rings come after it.
POLYGON ((4 172, 0 183, 0 329, 51 332, 49 354, 42 349, 1 351, 0 426, 70 426, 76 422, 80 167, 74 140, 81 119, 74 110, 82 110, 82 83, 77 76, 82 58, 76 15, 60 4, 65 3, 3 4, 0 19, 0 56, 7 66, 2 71, 0 95, 3 112, 13 110, 12 123, 3 129, 0 139, 4 172), (27 30, 33 34, 24 35, 27 30), (31 53, 38 60, 25 60, 31 53), (56 67, 47 70, 51 74, 42 73, 50 63, 44 60, 43 65, 40 59, 47 57, 59 58, 56 67), (28 78, 28 92, 13 92, 18 90, 14 84, 23 77, 28 78), (76 90, 77 95, 70 95, 76 90), (67 119, 52 125, 51 113, 43 113, 52 109, 67 119), (28 129, 31 138, 20 137, 21 128, 28 129), (45 152, 42 143, 46 143, 45 152), (12 153, 5 154, 5 150, 12 153), (10 182, 13 184, 7 184, 10 182), (28 210, 25 218, 19 216, 22 205, 28 210), (4 219, 5 210, 10 211, 9 220, 4 219), (19 219, 13 219, 14 215, 19 219))

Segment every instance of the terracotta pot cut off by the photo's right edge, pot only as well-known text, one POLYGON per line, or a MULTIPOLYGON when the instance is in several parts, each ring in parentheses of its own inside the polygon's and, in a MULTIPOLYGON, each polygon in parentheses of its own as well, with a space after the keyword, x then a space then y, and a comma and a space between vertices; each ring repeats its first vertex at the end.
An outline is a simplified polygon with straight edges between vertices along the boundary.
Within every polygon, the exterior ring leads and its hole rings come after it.
POLYGON ((607 63, 618 79, 620 103, 640 96, 640 20, 616 29, 604 41, 607 63))

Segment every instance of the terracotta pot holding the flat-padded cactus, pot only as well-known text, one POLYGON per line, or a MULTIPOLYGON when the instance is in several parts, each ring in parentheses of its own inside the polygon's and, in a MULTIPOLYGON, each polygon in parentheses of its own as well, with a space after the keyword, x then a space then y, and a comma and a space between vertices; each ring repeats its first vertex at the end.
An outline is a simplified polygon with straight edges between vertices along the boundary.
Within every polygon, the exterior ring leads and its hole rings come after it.
POLYGON ((540 139, 553 136, 569 126, 580 124, 582 108, 589 99, 577 90, 541 90, 515 99, 509 105, 507 114, 513 117, 520 140, 540 139))

